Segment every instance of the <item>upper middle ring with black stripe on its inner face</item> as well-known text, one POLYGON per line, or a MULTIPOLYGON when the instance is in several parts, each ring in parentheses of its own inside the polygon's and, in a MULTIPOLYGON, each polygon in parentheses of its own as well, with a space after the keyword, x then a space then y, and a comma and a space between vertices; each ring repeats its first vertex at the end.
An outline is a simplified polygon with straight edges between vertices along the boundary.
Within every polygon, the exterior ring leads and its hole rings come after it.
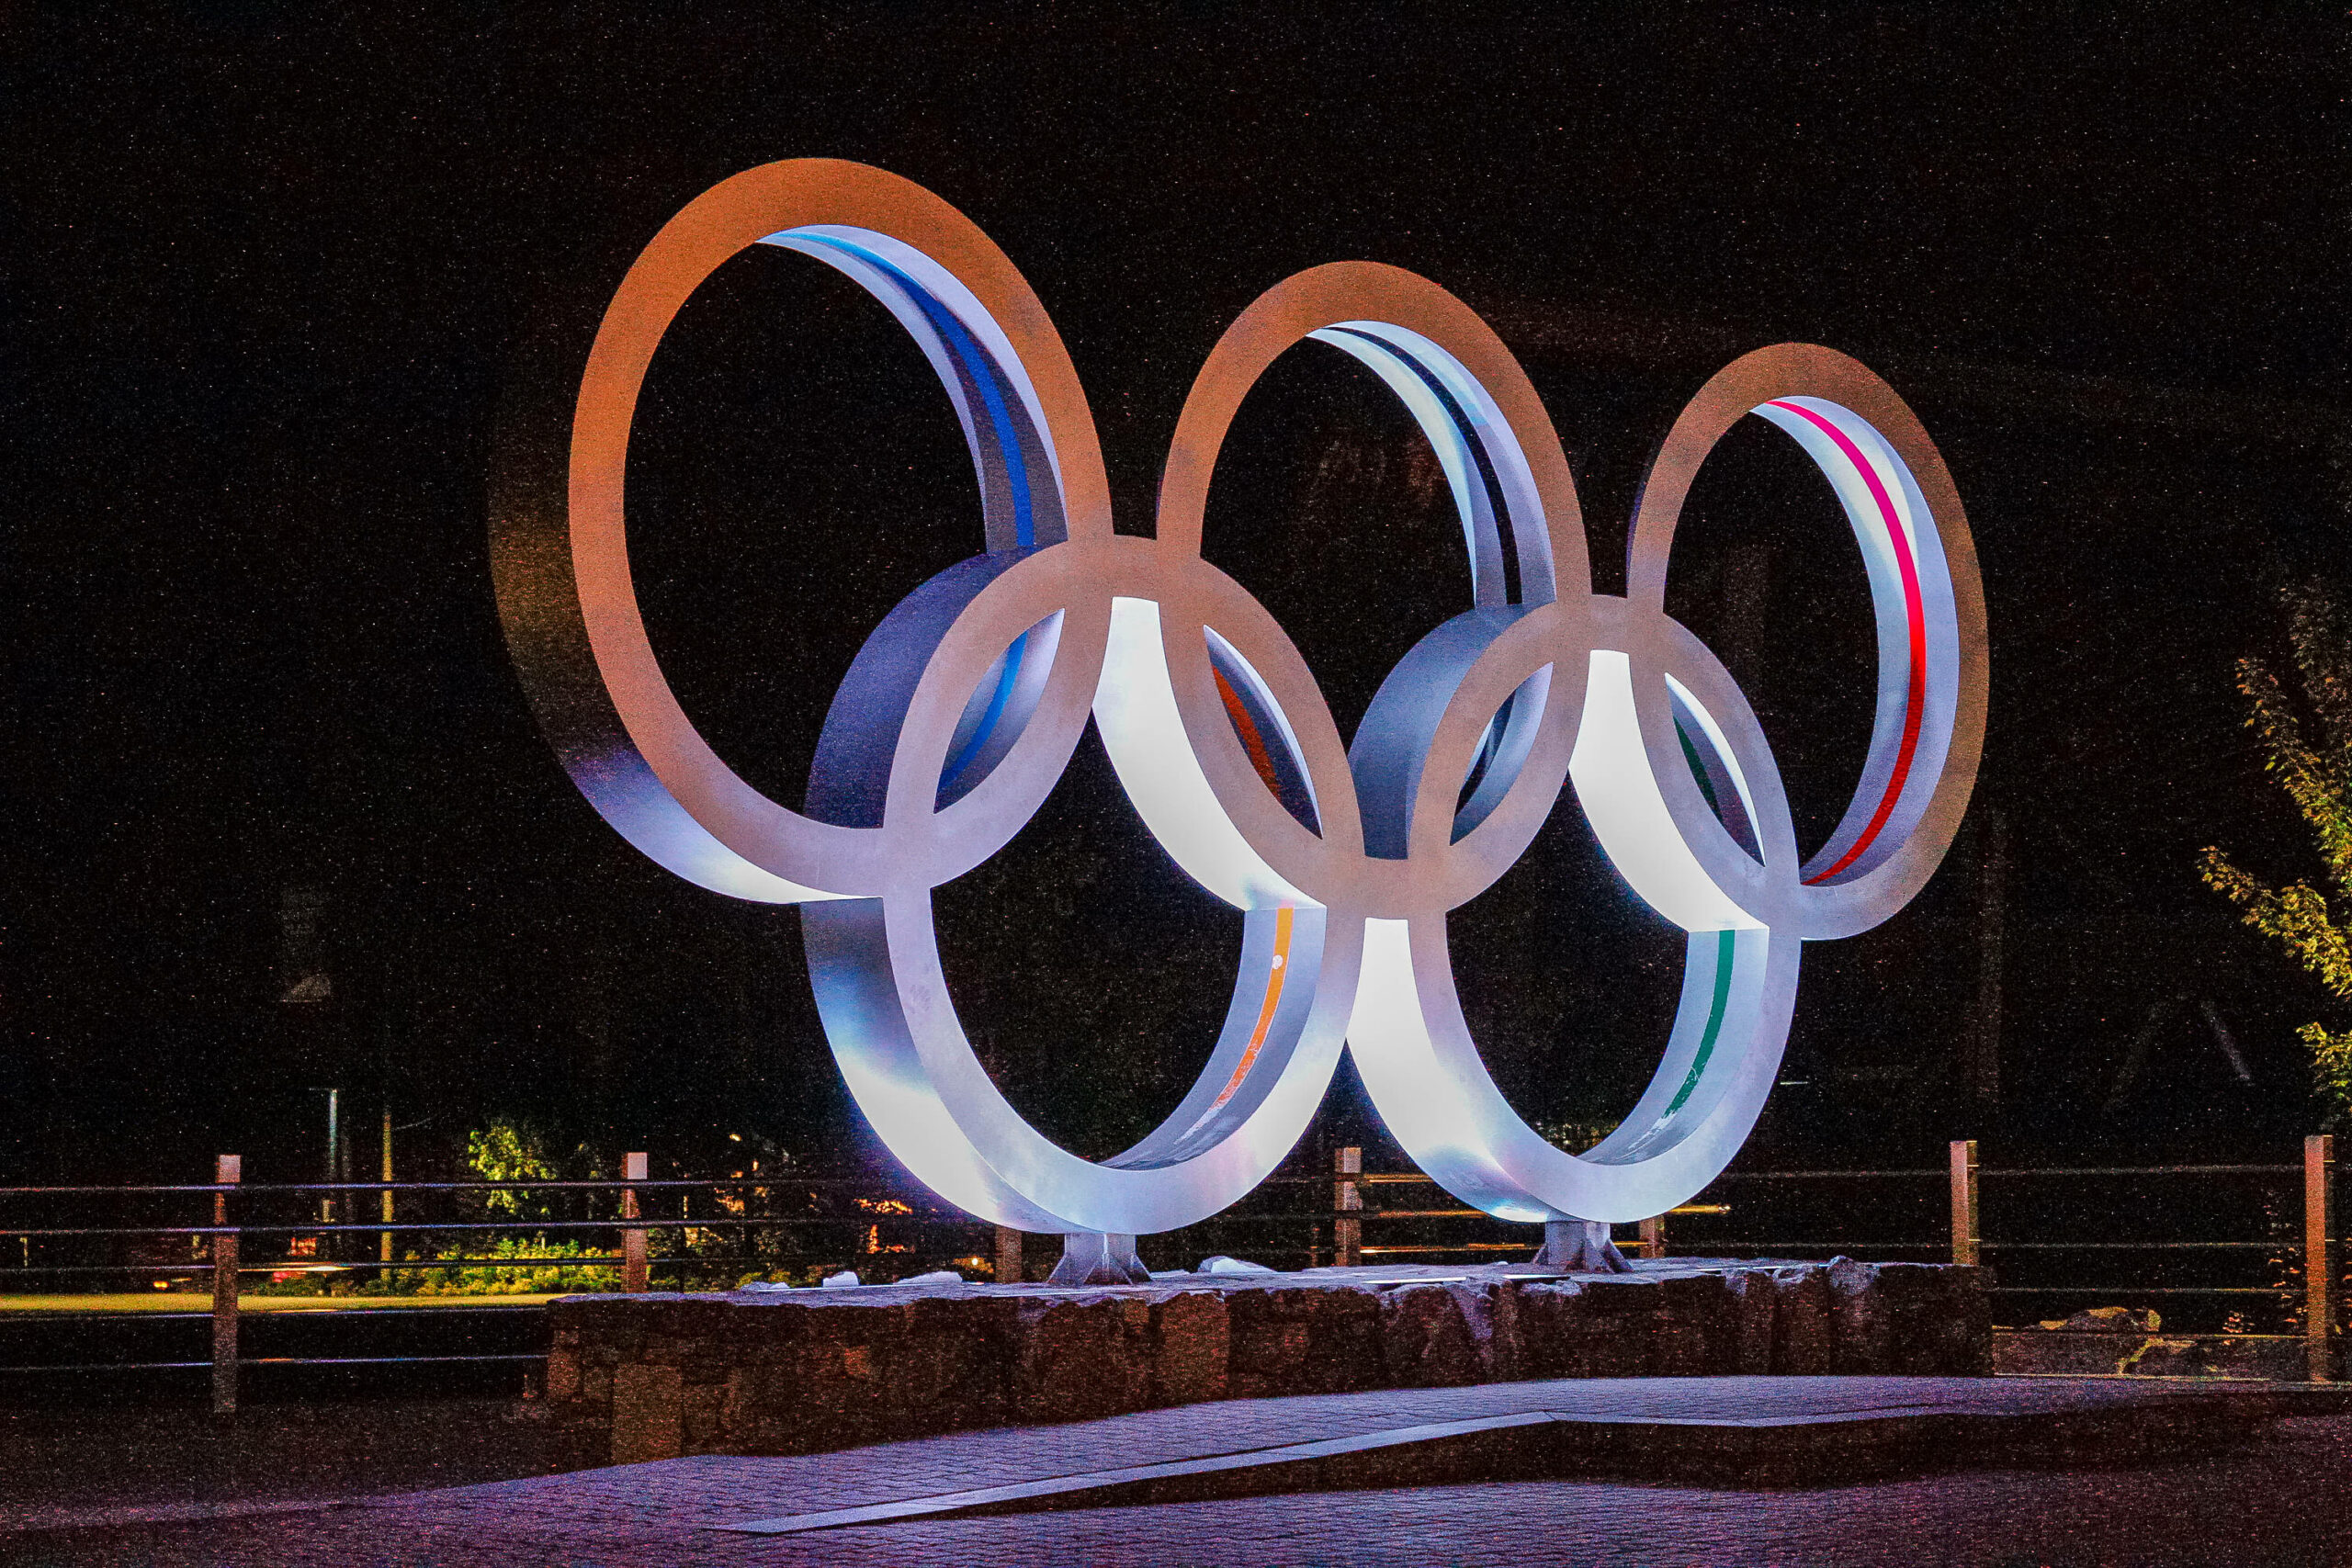
MULTIPOLYGON (((1545 649, 1550 658, 1576 642, 1592 576, 1559 437, 1486 322, 1430 280, 1388 266, 1334 263, 1275 284, 1225 329, 1185 397, 1160 484, 1157 538, 1164 574, 1157 618, 1181 696, 1185 752, 1204 773, 1218 816, 1263 856, 1265 877, 1334 912, 1364 917, 1432 900, 1451 907, 1510 870, 1559 795, 1581 684, 1552 682, 1538 661, 1475 719, 1454 710, 1472 670, 1484 670, 1498 649, 1545 649), (1305 339, 1352 355, 1399 395, 1444 468, 1470 559, 1472 607, 1406 654, 1345 752, 1289 637, 1230 578, 1200 564, 1202 515, 1225 430, 1265 367, 1305 339), (1195 585, 1204 592, 1192 592, 1195 585), (1515 698, 1519 684, 1529 689, 1515 698), (1512 712, 1489 736, 1505 698, 1515 698, 1512 712), (1251 722, 1258 708, 1272 724, 1251 722), (1312 792, 1308 813, 1282 799, 1284 748, 1272 743, 1282 738, 1312 792), (1439 778, 1425 759, 1446 757, 1446 748, 1461 766, 1439 778), (1472 799, 1456 811, 1472 752, 1486 766, 1472 799), (1416 825, 1423 797, 1444 799, 1444 820, 1416 825)), ((1103 724, 1105 738, 1143 743, 1120 729, 1103 724)), ((1150 809, 1145 820, 1185 860, 1150 809)), ((1195 877, 1216 889, 1200 870, 1195 877)))

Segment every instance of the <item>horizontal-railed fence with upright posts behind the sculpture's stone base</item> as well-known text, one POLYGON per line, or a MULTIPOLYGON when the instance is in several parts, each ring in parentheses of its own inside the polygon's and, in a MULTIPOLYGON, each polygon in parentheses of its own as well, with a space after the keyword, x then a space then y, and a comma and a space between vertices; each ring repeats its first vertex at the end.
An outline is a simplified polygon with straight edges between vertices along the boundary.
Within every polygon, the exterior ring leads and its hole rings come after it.
MULTIPOLYGON (((854 1255, 875 1258, 873 1267, 889 1272, 889 1260, 877 1253, 906 1253, 917 1255, 941 1255, 946 1244, 941 1239, 964 1237, 967 1251, 957 1258, 960 1267, 978 1267, 993 1272, 995 1279, 1023 1279, 1023 1237, 1021 1232, 1009 1232, 1002 1227, 990 1227, 971 1215, 948 1211, 929 1194, 917 1192, 884 1192, 877 1178, 856 1175, 748 1175, 748 1178, 724 1178, 724 1180, 689 1180, 689 1178, 652 1178, 647 1175, 644 1154, 630 1154, 623 1161, 623 1173, 619 1178, 604 1180, 470 1180, 470 1182, 252 1182, 245 1185, 240 1178, 240 1161, 235 1157, 221 1157, 216 1168, 216 1180, 212 1182, 167 1182, 167 1185, 129 1185, 129 1187, 103 1187, 103 1185, 26 1185, 26 1187, 0 1187, 0 1244, 16 1246, 24 1253, 21 1265, 0 1265, 0 1321, 16 1324, 198 1324, 209 1321, 212 1326, 212 1356, 209 1359, 158 1359, 158 1361, 64 1361, 42 1366, 0 1366, 0 1373, 160 1373, 160 1371, 212 1371, 212 1403, 216 1410, 233 1410, 238 1403, 240 1373, 252 1368, 360 1368, 360 1366, 522 1366, 529 1368, 543 1361, 541 1352, 522 1349, 494 1349, 494 1352, 466 1352, 466 1354, 353 1354, 353 1356, 308 1356, 308 1354, 249 1354, 242 1347, 242 1316, 247 1298, 247 1276, 270 1274, 275 1281, 289 1281, 296 1276, 339 1276, 339 1279, 393 1279, 402 1274, 430 1274, 442 1272, 449 1279, 454 1269, 482 1269, 482 1272, 564 1272, 564 1269, 619 1269, 619 1279, 604 1274, 602 1288, 619 1284, 621 1291, 647 1291, 656 1272, 670 1274, 675 1284, 684 1286, 689 1279, 703 1279, 706 1288, 713 1279, 720 1284, 731 1284, 729 1272, 774 1272, 779 1265, 809 1267, 814 1253, 795 1244, 790 1251, 779 1251, 771 1244, 760 1244, 762 1237, 809 1237, 814 1232, 863 1232, 863 1251, 854 1248, 854 1255), (374 1194, 376 1218, 360 1218, 360 1201, 374 1194), (609 1194, 612 1213, 590 1218, 557 1218, 546 1211, 550 1199, 569 1201, 597 1201, 609 1194), (40 1201, 64 1201, 64 1199, 212 1199, 207 1204, 212 1222, 195 1225, 7 1225, 14 1218, 12 1208, 16 1201, 40 1199, 40 1201), (245 1213, 256 1201, 280 1201, 294 1199, 301 1204, 318 1204, 318 1218, 282 1222, 282 1220, 259 1220, 245 1218, 245 1213), (473 1201, 477 1213, 473 1218, 414 1218, 414 1204, 419 1201, 473 1201), (647 1199, 663 1199, 680 1206, 680 1213, 654 1215, 644 1208, 647 1199), (715 1213, 694 1215, 689 1213, 696 1201, 717 1208, 715 1213), (847 1199, 847 1204, 835 1204, 821 1208, 833 1199, 847 1199), (487 1204, 506 1201, 539 1206, 536 1215, 487 1215, 480 1213, 487 1204), (395 1218, 395 1204, 409 1204, 412 1213, 395 1218), (795 1208, 779 1213, 776 1208, 795 1208), (757 1208, 757 1211, 755 1211, 757 1208), (927 1237, 938 1244, 908 1244, 891 1241, 882 1244, 884 1232, 889 1237, 927 1237), (449 1253, 409 1253, 395 1255, 395 1239, 430 1239, 435 1234, 447 1234, 452 1239, 503 1234, 503 1237, 532 1237, 536 1251, 506 1251, 485 1253, 480 1246, 461 1246, 449 1253), (604 1234, 619 1239, 619 1251, 572 1251, 560 1253, 548 1237, 564 1234, 604 1234), (353 1239, 365 1241, 365 1237, 376 1237, 374 1258, 355 1255, 353 1239), (652 1248, 654 1239, 668 1239, 668 1251, 656 1253, 652 1248), (209 1251, 209 1255, 191 1255, 188 1260, 132 1260, 132 1262, 33 1262, 33 1241, 78 1241, 96 1246, 127 1246, 127 1244, 158 1244, 158 1241, 186 1241, 191 1251, 209 1251), (713 1246, 731 1241, 731 1246, 713 1246), (303 1255, 285 1255, 273 1260, 245 1258, 245 1246, 275 1246, 294 1251, 296 1244, 303 1246, 303 1255), (703 1251, 696 1251, 696 1248, 703 1251), (212 1276, 212 1305, 207 1312, 115 1312, 115 1314, 73 1314, 73 1312, 42 1312, 42 1314, 7 1314, 7 1295, 12 1281, 33 1279, 99 1279, 99 1276, 134 1276, 148 1281, 167 1279, 191 1279, 212 1276)), ((1818 1171, 1729 1171, 1717 1178, 1715 1190, 1755 1190, 1757 1185, 1780 1185, 1802 1187, 1809 1182, 1839 1185, 1851 1180, 1882 1180, 1882 1182, 1947 1182, 1950 1197, 1950 1232, 1943 1237, 1912 1237, 1912 1239, 1886 1239, 1886 1241, 1860 1241, 1860 1239, 1837 1239, 1837 1241, 1733 1241, 1715 1239, 1712 1234, 1703 1239, 1696 1248, 1710 1258, 1726 1255, 1759 1255, 1759 1258, 1802 1258, 1823 1253, 1882 1253, 1882 1255, 1950 1255, 1955 1262, 1980 1262, 1985 1255, 2053 1255, 2053 1253, 2077 1253, 2077 1255, 2216 1255, 2237 1258, 2244 1253, 2270 1253, 2272 1258, 2293 1255, 2300 1265, 2300 1286, 2249 1286, 2249 1284, 2145 1284, 2145 1286, 2096 1286, 2096 1284, 2004 1284, 1992 1286, 1997 1293, 2009 1298, 2082 1298, 2082 1295, 2119 1295, 2119 1298, 2216 1298, 2216 1300, 2270 1300, 2284 1302, 2293 1295, 2303 1295, 2303 1338, 2307 1345, 2310 1373, 2312 1378, 2338 1375, 2338 1248, 2340 1237, 2336 1234, 2336 1208, 2333 1208, 2333 1140, 2310 1138, 2305 1140, 2303 1164, 2201 1164, 2201 1166, 2030 1166, 2030 1168, 1985 1168, 1978 1161, 1973 1143, 1955 1143, 1950 1147, 1950 1164, 1915 1166, 1915 1168, 1818 1168, 1818 1171), (2056 1237, 2044 1229, 2044 1234, 2018 1234, 2018 1237, 1983 1237, 1983 1182, 1987 1180, 2145 1180, 2145 1178, 2303 1178, 2303 1234, 2300 1246, 2284 1237, 2270 1239, 2067 1239, 2056 1237)), ((1298 1258, 1303 1255, 1310 1265, 1331 1262, 1338 1267, 1352 1267, 1369 1260, 1414 1260, 1414 1258, 1503 1258, 1503 1255, 1529 1255, 1536 1239, 1526 1234, 1526 1227, 1494 1220, 1479 1208, 1463 1206, 1430 1206, 1418 1192, 1397 1192, 1399 1201, 1388 1206, 1367 1204, 1367 1197, 1388 1197, 1390 1190, 1435 1190, 1435 1182, 1418 1171, 1364 1171, 1359 1150, 1338 1150, 1334 1159, 1331 1175, 1279 1175, 1263 1185, 1272 1199, 1282 1199, 1284 1192, 1298 1197, 1312 1197, 1317 1190, 1329 1192, 1329 1208, 1319 1204, 1298 1204, 1296 1197, 1287 1204, 1265 1211, 1240 1211, 1223 1213, 1188 1227, 1188 1234, 1216 1234, 1221 1229, 1258 1234, 1258 1241, 1249 1251, 1275 1258, 1298 1258), (1418 1206, 1416 1206, 1418 1204, 1418 1206), (1463 1225, 1486 1227, 1486 1234, 1461 1234, 1463 1225), (1265 1227, 1275 1227, 1277 1234, 1265 1234, 1265 1227), (1367 1232, 1369 1227, 1369 1232, 1367 1232), (1289 1246, 1282 1241, 1282 1229, 1305 1232, 1305 1246, 1289 1246), (1454 1232, 1454 1234, 1446 1234, 1454 1232)), ((1700 1194, 1705 1197, 1705 1194, 1700 1194)), ((1922 1194, 1926 1197, 1926 1194, 1922 1194)), ((1710 1229, 1712 1222, 1724 1222, 1736 1213, 1745 1213, 1745 1204, 1724 1201, 1693 1201, 1675 1208, 1668 1215, 1656 1215, 1639 1222, 1637 1239, 1628 1239, 1630 1251, 1646 1258, 1665 1258, 1670 1253, 1668 1229, 1679 1227, 1684 1220, 1705 1220, 1710 1229)), ((33 1215, 26 1215, 33 1218, 33 1215)), ((837 1255, 837 1253, 835 1253, 837 1255)), ((818 1265, 823 1267, 823 1265, 818 1265)), ((572 1286, 567 1286, 572 1288, 572 1286)), ((496 1321, 501 1314, 506 1319, 520 1319, 522 1314, 536 1314, 536 1305, 494 1305, 494 1302, 463 1302, 463 1305, 435 1305, 435 1307, 409 1307, 409 1305, 367 1305, 367 1307, 343 1307, 343 1309, 289 1309, 263 1314, 273 1324, 280 1319, 318 1321, 325 1316, 350 1319, 350 1321, 386 1321, 386 1319, 440 1319, 440 1321, 496 1321)))

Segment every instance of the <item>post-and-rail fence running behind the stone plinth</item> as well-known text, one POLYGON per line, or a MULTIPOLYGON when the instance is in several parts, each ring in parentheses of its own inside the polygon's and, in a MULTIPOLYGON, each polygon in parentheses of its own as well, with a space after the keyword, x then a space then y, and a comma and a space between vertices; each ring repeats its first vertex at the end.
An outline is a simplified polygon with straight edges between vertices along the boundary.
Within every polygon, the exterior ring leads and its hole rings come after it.
MULTIPOLYGON (((26 1267, 0 1267, 0 1291, 14 1281, 49 1276, 103 1276, 103 1274, 129 1274, 148 1279, 186 1279, 205 1276, 212 1279, 212 1302, 207 1312, 186 1314, 139 1314, 141 1321, 198 1321, 209 1319, 212 1326, 212 1354, 207 1361, 94 1361, 85 1366, 0 1366, 0 1373, 64 1373, 64 1371, 212 1371, 212 1403, 216 1410, 235 1410, 240 1375, 256 1366, 487 1366, 487 1363, 515 1363, 527 1366, 543 1361, 543 1352, 494 1352, 494 1354, 421 1354, 421 1356, 247 1356, 242 1349, 242 1279, 249 1274, 294 1274, 306 1269, 332 1269, 339 1274, 374 1274, 383 1279, 386 1274, 400 1272, 430 1272, 430 1269, 604 1269, 619 1267, 621 1291, 647 1291, 652 1286, 654 1272, 673 1272, 675 1284, 684 1286, 689 1276, 701 1274, 706 1281, 713 1272, 753 1267, 757 1272, 774 1269, 781 1260, 807 1262, 809 1253, 795 1248, 793 1253, 781 1253, 774 1246, 762 1248, 760 1237, 774 1237, 776 1232, 809 1232, 809 1229, 840 1229, 856 1227, 868 1234, 868 1246, 880 1246, 882 1227, 891 1227, 894 1234, 903 1234, 908 1227, 917 1232, 950 1229, 974 1237, 978 1241, 983 1234, 990 1237, 993 1258, 983 1248, 974 1248, 967 1265, 978 1265, 993 1272, 995 1279, 1023 1279, 1023 1234, 1004 1227, 990 1227, 983 1220, 946 1211, 936 1199, 927 1194, 877 1194, 880 1182, 875 1178, 816 1178, 795 1173, 774 1175, 750 1175, 731 1180, 654 1180, 647 1175, 644 1154, 628 1154, 623 1159, 623 1173, 616 1180, 506 1180, 506 1182, 275 1182, 275 1185, 245 1185, 242 1161, 235 1154, 223 1154, 216 1164, 216 1180, 202 1185, 151 1185, 151 1187, 0 1187, 0 1199, 64 1199, 64 1197, 209 1197, 212 1213, 209 1225, 35 1225, 16 1227, 0 1225, 0 1237, 19 1241, 31 1253, 33 1239, 101 1239, 101 1241, 132 1241, 132 1239, 188 1239, 191 1246, 209 1244, 209 1258, 186 1265, 176 1262, 99 1262, 99 1265, 31 1265, 26 1267), (807 1194, 814 1204, 826 1192, 854 1194, 851 1208, 835 1208, 830 1213, 753 1213, 750 1194, 774 1197, 779 1192, 807 1194), (381 1208, 376 1218, 358 1220, 350 1218, 355 1204, 365 1194, 379 1194, 381 1208), (463 1220, 416 1220, 397 1218, 395 1208, 400 1194, 407 1194, 414 1213, 414 1199, 426 1194, 473 1194, 475 1201, 492 1199, 492 1194, 574 1194, 583 1201, 595 1201, 597 1197, 612 1194, 614 1211, 597 1218, 463 1218, 463 1220), (680 1215, 652 1215, 644 1201, 656 1194, 677 1194, 682 1199, 680 1215), (687 1213, 691 1208, 691 1197, 706 1194, 713 1201, 731 1201, 734 1208, 720 1213, 706 1213, 701 1218, 687 1213), (720 1194, 736 1194, 734 1199, 720 1199, 720 1194), (240 1213, 233 1213, 233 1204, 249 1206, 254 1199, 318 1199, 322 1201, 322 1218, 301 1222, 249 1222, 240 1213), (334 1206, 341 1204, 343 1218, 334 1218, 334 1206), (917 1204, 929 1204, 936 1211, 917 1208, 917 1204), (461 1253, 442 1255, 416 1255, 395 1258, 395 1237, 470 1237, 470 1234, 517 1234, 527 1232, 534 1237, 546 1237, 550 1232, 567 1234, 607 1234, 619 1239, 619 1251, 607 1253, 496 1253, 496 1255, 473 1255, 473 1248, 461 1253), (691 1232, 703 1232, 706 1237, 734 1234, 734 1253, 710 1253, 694 1251, 691 1232), (993 1234, 990 1234, 993 1232, 993 1234), (677 1248, 668 1255, 654 1255, 649 1239, 673 1234, 677 1237, 677 1248), (332 1258, 332 1260, 294 1260, 280 1258, 270 1262, 245 1262, 245 1244, 270 1241, 270 1239, 315 1239, 315 1244, 329 1244, 350 1237, 376 1237, 376 1258, 332 1258)), ((2079 1180, 2110 1180, 2110 1178, 2178 1178, 2178 1175, 2263 1175, 2263 1178, 2303 1178, 2303 1338, 2307 1347, 2307 1361, 2312 1378, 2338 1375, 2338 1324, 2336 1324, 2336 1291, 2338 1279, 2338 1244, 2336 1234, 2336 1211, 2333 1211, 2333 1140, 2310 1138, 2305 1140, 2303 1164, 2209 1164, 2209 1166, 2037 1166, 2037 1168, 1985 1168, 1978 1161, 1976 1143, 1950 1145, 1950 1161, 1943 1168, 1891 1168, 1891 1171, 1733 1171, 1717 1178, 1715 1187, 1738 1187, 1755 1182, 1846 1182, 1846 1180, 1943 1180, 1950 1190, 1950 1234, 1933 1241, 1708 1241, 1708 1255, 1729 1253, 1762 1253, 1762 1255, 1804 1255, 1804 1253, 1947 1253, 1952 1262, 1973 1265, 1987 1253, 2164 1253, 2164 1251, 2192 1251, 2192 1253, 2241 1253, 2241 1251, 2270 1251, 2281 1248, 2279 1239, 2218 1239, 2218 1241, 2166 1241, 2166 1239, 2100 1239, 2100 1241, 2065 1241, 2065 1239, 1985 1239, 1983 1237, 1983 1182, 1987 1180, 2053 1180, 2053 1178, 2079 1178, 2079 1180)), ((1461 1206, 1367 1206, 1367 1194, 1395 1187, 1432 1187, 1435 1182, 1418 1171, 1364 1171, 1362 1150, 1345 1147, 1334 1157, 1334 1168, 1329 1178, 1272 1178, 1265 1182, 1270 1194, 1284 1190, 1315 1190, 1329 1180, 1331 1206, 1329 1208, 1305 1208, 1305 1211, 1228 1211, 1214 1220, 1204 1220, 1195 1232, 1216 1232, 1228 1227, 1296 1227, 1305 1225, 1308 1244, 1277 1246, 1277 1237, 1263 1237, 1256 1251, 1261 1255, 1303 1255, 1310 1265, 1334 1262, 1341 1267, 1364 1265, 1367 1260, 1383 1258, 1477 1258, 1477 1255, 1508 1255, 1508 1253, 1531 1253, 1534 1237, 1526 1237, 1526 1227, 1512 1225, 1508 1234, 1512 1239, 1437 1239, 1430 1237, 1454 1222, 1477 1222, 1486 1227, 1486 1234, 1503 1222, 1494 1220, 1479 1208, 1461 1206), (1367 1241, 1367 1225, 1376 1227, 1371 1241, 1367 1241)), ((1710 1192, 1715 1190, 1710 1187, 1710 1192)), ((1700 1194, 1708 1197, 1708 1194, 1700 1194)), ((494 1199, 492 1199, 494 1201, 494 1199)), ((1656 1215, 1642 1220, 1637 1227, 1637 1239, 1628 1239, 1632 1251, 1649 1258, 1668 1255, 1668 1227, 1679 1215, 1708 1215, 1722 1218, 1733 1213, 1729 1204, 1684 1204, 1670 1215, 1656 1215)), ((903 1251, 903 1248, 894 1248, 903 1251)), ((868 1253, 870 1255, 870 1253, 868 1253)), ((835 1253, 840 1258, 840 1253, 835 1253)), ((2065 1293, 2119 1293, 2114 1286, 1994 1286, 2011 1295, 2065 1295, 2065 1293)), ((2246 1295, 2246 1298, 2272 1298, 2279 1300, 2288 1295, 2281 1286, 2131 1286, 2122 1291, 2126 1295, 2246 1295)), ((0 1295, 5 1300, 5 1295, 0 1295)), ((433 1314, 522 1314, 536 1312, 536 1307, 522 1305, 466 1305, 466 1307, 379 1307, 369 1305, 365 1316, 379 1319, 400 1312, 433 1312, 433 1314)))

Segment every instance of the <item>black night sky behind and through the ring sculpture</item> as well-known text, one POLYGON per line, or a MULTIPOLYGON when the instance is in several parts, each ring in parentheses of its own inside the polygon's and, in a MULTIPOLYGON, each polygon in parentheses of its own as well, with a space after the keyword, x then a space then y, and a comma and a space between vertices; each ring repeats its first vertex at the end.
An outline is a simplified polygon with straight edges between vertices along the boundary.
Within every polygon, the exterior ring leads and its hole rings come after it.
MULTIPOLYGON (((1919 907, 1809 954, 1790 1060, 1818 1086, 1783 1091, 1764 1135, 2307 1119, 2288 1030, 2319 999, 2192 863, 2220 839, 2300 870, 2230 663, 2274 635, 2265 585, 2343 543, 2345 24, 2324 7, 0 16, 0 1175, 294 1150, 322 1081, 388 1088, 428 1145, 501 1110, 689 1161, 720 1126, 809 1152, 847 1124, 795 917, 668 879, 586 809, 508 670, 485 555, 494 409, 550 280, 793 155, 906 174, 1011 254, 1134 531, 1209 343, 1319 261, 1421 270, 1522 350, 1602 588, 1651 444, 1712 369, 1780 339, 1863 357, 1943 444, 1985 567, 2009 1105, 1952 1084, 1966 837, 1919 907), (278 999, 310 961, 287 889, 320 900, 327 1004, 278 999), (2150 1093, 2100 1119, 2176 992, 2232 1020, 2256 1088, 2183 1025, 2150 1093)), ((866 628, 978 548, 946 400, 818 273, 762 254, 713 280, 656 362, 630 473, 656 646, 783 799, 866 628)), ((1418 437, 1352 376, 1277 367, 1211 517, 1211 559, 1282 616, 1343 724, 1461 592, 1418 437)), ((1677 614, 1722 635, 1726 562, 1771 541, 1733 670, 1832 818, 1867 724, 1858 559, 1762 440, 1726 444, 1693 505, 1677 614)), ((1675 947, 1571 806, 1461 929, 1522 1105, 1630 1093, 1675 947)), ((1091 752, 943 896, 943 931, 1016 1098, 1094 1154, 1174 1103, 1235 940, 1091 752), (1049 875, 1070 891, 1040 893, 1049 875)))

